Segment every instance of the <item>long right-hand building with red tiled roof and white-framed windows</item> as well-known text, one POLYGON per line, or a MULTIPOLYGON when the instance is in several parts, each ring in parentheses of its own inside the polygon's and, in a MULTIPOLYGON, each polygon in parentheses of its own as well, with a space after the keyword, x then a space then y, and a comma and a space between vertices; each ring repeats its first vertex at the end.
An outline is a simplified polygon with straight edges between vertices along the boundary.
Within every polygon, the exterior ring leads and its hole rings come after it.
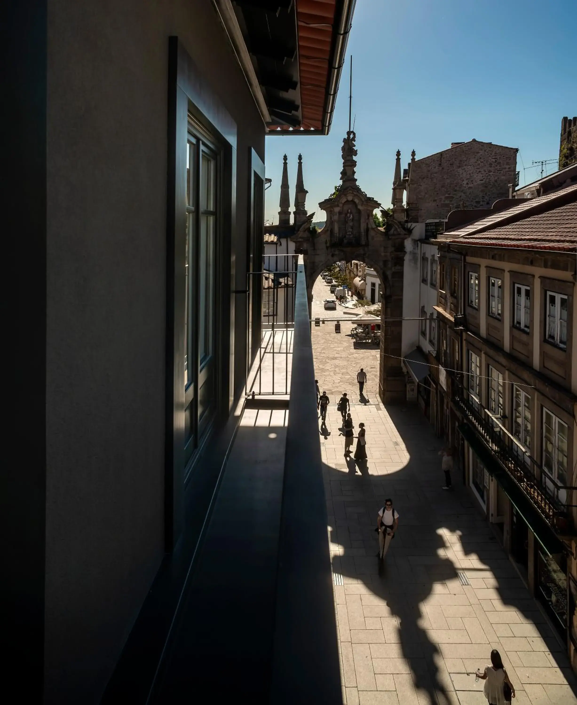
POLYGON ((435 245, 437 430, 575 665, 577 186, 435 245))

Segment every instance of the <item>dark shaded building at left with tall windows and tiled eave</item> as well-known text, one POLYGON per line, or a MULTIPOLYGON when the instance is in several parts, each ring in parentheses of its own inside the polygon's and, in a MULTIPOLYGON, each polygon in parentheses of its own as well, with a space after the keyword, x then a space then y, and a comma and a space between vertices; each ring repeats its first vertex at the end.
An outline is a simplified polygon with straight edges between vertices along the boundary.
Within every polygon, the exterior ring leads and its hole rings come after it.
POLYGON ((265 135, 328 133, 353 6, 4 8, 23 699, 152 701, 261 340, 265 135))

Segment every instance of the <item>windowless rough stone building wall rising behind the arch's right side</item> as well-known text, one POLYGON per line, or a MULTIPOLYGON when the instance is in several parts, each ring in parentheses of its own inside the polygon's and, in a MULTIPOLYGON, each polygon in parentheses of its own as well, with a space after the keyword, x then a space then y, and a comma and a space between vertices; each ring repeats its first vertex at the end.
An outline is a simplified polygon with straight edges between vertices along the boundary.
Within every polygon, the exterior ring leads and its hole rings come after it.
POLYGON ((517 149, 491 142, 454 143, 411 164, 406 203, 410 220, 445 219, 463 208, 490 208, 515 183, 517 149))

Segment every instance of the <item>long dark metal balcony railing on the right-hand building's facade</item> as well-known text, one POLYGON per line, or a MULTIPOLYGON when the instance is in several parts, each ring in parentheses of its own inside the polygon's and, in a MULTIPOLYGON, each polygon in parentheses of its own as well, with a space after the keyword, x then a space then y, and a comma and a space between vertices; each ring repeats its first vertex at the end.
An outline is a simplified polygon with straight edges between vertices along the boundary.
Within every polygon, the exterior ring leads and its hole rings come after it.
POLYGON ((555 482, 503 426, 499 417, 480 405, 461 384, 454 383, 453 391, 456 407, 509 477, 555 532, 566 533, 567 510, 576 505, 562 502, 559 491, 566 491, 571 498, 577 487, 555 482))

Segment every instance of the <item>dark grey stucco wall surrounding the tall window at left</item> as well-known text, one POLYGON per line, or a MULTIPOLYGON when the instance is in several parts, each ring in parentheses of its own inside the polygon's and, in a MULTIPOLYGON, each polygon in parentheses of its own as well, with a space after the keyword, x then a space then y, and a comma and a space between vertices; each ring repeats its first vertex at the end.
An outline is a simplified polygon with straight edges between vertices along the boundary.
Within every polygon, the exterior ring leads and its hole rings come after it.
MULTIPOLYGON (((49 703, 99 701, 164 551, 170 35, 238 123, 233 250, 242 270, 248 147, 264 159, 265 136, 212 5, 49 4, 49 703)), ((240 315, 235 335, 241 354, 240 315)))

